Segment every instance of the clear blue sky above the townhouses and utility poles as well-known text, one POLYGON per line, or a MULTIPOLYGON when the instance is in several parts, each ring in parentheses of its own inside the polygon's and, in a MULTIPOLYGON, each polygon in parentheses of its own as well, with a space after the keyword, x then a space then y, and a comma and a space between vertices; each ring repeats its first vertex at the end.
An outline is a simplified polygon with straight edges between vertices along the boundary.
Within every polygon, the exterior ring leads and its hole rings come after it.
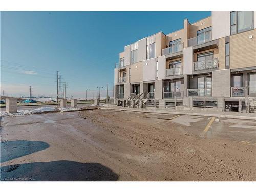
POLYGON ((113 94, 124 46, 208 17, 211 12, 1 12, 1 95, 56 97, 57 71, 67 96, 113 94))

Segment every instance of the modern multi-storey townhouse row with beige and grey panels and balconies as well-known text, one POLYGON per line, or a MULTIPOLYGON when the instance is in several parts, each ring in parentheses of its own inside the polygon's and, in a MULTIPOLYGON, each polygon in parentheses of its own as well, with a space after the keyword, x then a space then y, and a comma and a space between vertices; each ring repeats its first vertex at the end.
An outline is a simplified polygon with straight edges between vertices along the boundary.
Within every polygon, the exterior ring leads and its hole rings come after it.
POLYGON ((255 27, 253 11, 213 11, 125 46, 114 72, 116 103, 253 112, 255 27))

